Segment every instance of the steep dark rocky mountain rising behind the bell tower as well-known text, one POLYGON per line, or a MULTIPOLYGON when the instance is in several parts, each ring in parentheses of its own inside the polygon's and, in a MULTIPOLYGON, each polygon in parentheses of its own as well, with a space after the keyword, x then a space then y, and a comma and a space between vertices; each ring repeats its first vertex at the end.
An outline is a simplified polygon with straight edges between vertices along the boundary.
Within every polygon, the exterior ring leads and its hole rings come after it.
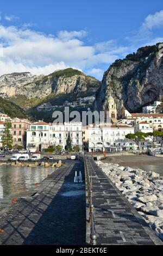
POLYGON ((96 93, 95 109, 106 109, 111 95, 120 118, 122 107, 135 113, 158 100, 163 94, 163 57, 159 45, 139 48, 110 65, 96 93))

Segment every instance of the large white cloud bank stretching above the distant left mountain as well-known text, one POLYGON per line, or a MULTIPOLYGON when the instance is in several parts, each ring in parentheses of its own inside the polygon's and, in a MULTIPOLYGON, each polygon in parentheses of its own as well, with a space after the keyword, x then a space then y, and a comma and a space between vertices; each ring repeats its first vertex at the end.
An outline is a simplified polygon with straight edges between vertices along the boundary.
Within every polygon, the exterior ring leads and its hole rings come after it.
POLYGON ((0 44, 3 43, 4 56, 0 59, 0 75, 22 71, 47 75, 68 66, 91 70, 95 65, 109 65, 127 51, 126 47, 117 47, 114 40, 86 45, 83 40, 86 34, 85 31, 60 31, 55 36, 26 26, 0 25, 0 44))

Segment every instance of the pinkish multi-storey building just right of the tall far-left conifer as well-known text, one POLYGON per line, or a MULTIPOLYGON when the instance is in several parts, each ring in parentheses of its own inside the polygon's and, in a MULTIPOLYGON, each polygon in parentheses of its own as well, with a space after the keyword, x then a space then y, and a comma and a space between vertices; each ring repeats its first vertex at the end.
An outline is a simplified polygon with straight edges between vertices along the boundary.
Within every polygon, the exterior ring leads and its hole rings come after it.
POLYGON ((13 146, 20 145, 22 147, 26 147, 27 130, 30 127, 30 121, 28 119, 13 118, 11 123, 13 146))

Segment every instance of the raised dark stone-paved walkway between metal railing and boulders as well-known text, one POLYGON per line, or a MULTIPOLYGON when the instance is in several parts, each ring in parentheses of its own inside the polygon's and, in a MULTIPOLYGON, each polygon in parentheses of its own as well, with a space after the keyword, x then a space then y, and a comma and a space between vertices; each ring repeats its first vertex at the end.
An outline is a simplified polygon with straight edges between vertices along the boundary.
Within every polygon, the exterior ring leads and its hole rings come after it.
POLYGON ((162 245, 133 206, 105 176, 95 161, 86 157, 92 174, 97 245, 162 245))

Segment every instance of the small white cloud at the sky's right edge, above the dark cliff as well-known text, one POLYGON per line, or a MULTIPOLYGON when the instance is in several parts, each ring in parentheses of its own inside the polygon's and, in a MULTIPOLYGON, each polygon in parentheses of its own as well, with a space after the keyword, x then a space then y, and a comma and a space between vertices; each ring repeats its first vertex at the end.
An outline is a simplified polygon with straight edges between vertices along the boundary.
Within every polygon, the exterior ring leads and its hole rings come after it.
POLYGON ((163 26, 163 10, 156 12, 155 14, 149 14, 142 24, 142 29, 151 30, 154 27, 163 26))

